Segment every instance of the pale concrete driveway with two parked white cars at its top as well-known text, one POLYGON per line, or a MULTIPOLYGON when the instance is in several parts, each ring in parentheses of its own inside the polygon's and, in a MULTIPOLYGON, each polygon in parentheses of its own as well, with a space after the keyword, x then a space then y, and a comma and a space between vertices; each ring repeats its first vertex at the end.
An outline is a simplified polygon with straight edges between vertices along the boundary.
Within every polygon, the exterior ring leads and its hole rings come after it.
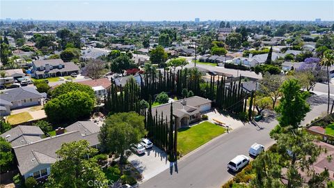
POLYGON ((168 169, 171 164, 168 162, 166 152, 160 150, 156 146, 152 149, 148 149, 145 155, 132 154, 129 157, 129 162, 136 167, 136 169, 143 175, 142 182, 149 180, 155 175, 168 169))

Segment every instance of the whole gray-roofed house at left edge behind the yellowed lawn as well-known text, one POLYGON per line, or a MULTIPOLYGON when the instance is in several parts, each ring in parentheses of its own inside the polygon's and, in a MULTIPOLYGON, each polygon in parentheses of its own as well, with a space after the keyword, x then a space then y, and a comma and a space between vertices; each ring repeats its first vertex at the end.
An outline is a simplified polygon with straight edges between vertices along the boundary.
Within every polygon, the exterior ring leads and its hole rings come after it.
MULTIPOLYGON (((42 98, 44 97, 43 93, 39 93, 31 87, 13 88, 0 93, 1 106, 4 105, 3 107, 9 107, 10 109, 42 104, 42 98)), ((1 116, 4 116, 4 114, 1 113, 1 116)))

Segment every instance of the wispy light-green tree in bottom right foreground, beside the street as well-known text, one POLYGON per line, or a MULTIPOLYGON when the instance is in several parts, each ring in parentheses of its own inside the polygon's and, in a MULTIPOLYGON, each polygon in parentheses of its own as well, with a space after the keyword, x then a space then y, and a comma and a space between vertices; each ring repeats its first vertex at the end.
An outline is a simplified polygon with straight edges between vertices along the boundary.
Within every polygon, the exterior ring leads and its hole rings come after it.
POLYGON ((315 144, 315 136, 295 130, 275 137, 276 152, 263 152, 253 162, 255 178, 250 187, 324 187, 328 170, 315 173, 312 166, 324 152, 315 144))

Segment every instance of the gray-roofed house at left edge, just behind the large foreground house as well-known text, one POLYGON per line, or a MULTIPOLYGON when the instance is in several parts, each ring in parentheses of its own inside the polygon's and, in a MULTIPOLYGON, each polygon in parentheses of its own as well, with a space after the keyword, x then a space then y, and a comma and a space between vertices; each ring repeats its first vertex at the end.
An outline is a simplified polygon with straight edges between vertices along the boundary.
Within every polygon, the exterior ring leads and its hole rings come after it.
POLYGON ((12 147, 16 147, 39 141, 44 133, 38 126, 18 125, 0 136, 6 139, 12 147))

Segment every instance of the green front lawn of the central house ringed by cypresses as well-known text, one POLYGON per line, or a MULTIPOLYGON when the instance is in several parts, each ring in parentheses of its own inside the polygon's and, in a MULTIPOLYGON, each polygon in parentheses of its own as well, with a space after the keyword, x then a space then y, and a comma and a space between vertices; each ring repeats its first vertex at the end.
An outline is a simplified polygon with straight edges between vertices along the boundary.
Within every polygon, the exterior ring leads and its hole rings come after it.
POLYGON ((225 128, 207 121, 193 127, 181 128, 177 131, 177 150, 186 155, 224 132, 225 128))

